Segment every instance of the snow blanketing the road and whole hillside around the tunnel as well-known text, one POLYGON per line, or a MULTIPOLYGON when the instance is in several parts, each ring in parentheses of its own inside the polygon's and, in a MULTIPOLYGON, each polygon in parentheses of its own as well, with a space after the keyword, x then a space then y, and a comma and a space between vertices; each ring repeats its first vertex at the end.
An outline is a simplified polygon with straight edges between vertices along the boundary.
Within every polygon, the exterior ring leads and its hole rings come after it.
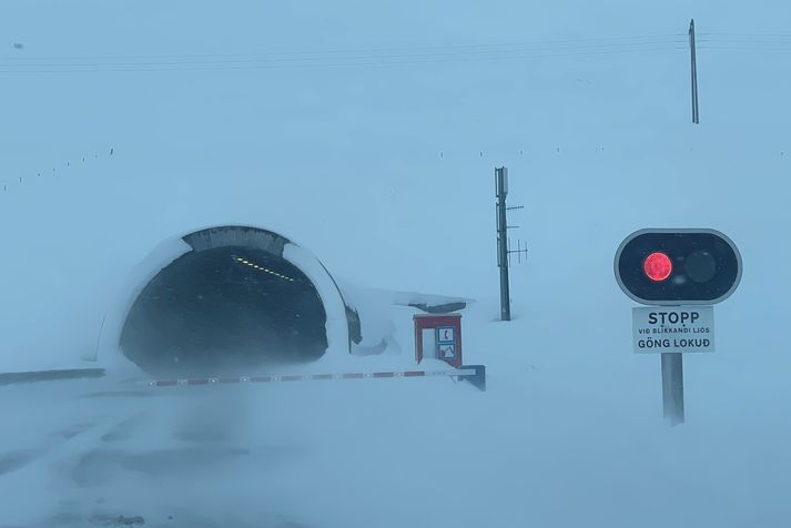
MULTIPOLYGON (((283 3, 0 6, 0 370, 73 366, 162 240, 245 223, 349 283, 476 298, 465 356, 487 365, 488 390, 0 387, 0 526, 789 526, 791 75, 777 33, 791 7, 283 3), (692 16, 708 39, 698 126, 692 16), (659 50, 636 51, 657 34, 670 35, 659 50), (570 39, 597 52, 564 51, 570 39), (537 41, 544 54, 516 59, 457 48, 537 41), (399 60, 179 65, 361 49, 399 60), (151 55, 176 68, 102 65, 151 55), (500 164, 530 251, 508 324, 500 164), (681 427, 661 419, 659 358, 631 353, 632 303, 612 276, 618 244, 646 226, 718 229, 744 261, 716 308, 717 353, 684 359, 681 427)), ((361 369, 408 363, 410 317, 393 309, 402 354, 361 369)))

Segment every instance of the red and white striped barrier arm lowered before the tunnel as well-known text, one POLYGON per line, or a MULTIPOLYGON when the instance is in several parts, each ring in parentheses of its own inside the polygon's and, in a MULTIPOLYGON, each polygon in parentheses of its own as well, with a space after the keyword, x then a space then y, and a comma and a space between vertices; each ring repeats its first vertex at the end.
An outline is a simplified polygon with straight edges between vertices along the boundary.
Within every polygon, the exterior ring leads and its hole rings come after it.
POLYGON ((240 377, 191 377, 181 379, 153 379, 139 382, 150 387, 179 387, 186 385, 231 385, 251 383, 276 382, 312 382, 322 379, 366 379, 366 378, 399 378, 399 377, 458 377, 467 379, 481 390, 485 389, 485 367, 483 365, 462 366, 462 368, 447 368, 443 370, 397 370, 377 373, 347 373, 347 374, 283 374, 268 376, 240 376, 240 377))

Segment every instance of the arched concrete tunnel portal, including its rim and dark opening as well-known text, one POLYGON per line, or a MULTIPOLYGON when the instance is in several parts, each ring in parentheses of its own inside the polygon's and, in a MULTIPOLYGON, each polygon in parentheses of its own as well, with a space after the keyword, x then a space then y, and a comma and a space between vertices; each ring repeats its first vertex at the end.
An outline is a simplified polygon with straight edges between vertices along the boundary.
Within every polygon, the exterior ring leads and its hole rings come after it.
MULTIPOLYGON (((310 252, 271 231, 220 226, 150 258, 118 344, 156 376, 240 374, 349 345, 356 315, 310 252), (344 343, 345 342, 345 343, 344 343)), ((358 321, 358 319, 357 319, 358 321)))

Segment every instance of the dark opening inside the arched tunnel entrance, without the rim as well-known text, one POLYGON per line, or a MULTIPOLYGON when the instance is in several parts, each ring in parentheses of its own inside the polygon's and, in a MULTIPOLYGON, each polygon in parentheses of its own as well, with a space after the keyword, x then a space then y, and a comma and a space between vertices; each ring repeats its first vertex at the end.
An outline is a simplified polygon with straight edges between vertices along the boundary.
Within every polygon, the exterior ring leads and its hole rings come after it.
POLYGON ((245 374, 320 358, 326 319, 294 264, 263 250, 213 247, 180 256, 145 285, 120 344, 149 374, 245 374))

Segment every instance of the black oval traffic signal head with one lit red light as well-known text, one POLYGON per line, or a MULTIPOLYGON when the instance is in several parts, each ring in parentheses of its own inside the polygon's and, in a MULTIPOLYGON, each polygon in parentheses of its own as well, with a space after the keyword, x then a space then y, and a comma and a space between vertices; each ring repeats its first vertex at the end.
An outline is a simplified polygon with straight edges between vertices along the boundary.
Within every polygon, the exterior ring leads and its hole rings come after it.
POLYGON ((641 230, 618 247, 615 272, 638 303, 716 304, 739 285, 741 256, 714 230, 641 230))

